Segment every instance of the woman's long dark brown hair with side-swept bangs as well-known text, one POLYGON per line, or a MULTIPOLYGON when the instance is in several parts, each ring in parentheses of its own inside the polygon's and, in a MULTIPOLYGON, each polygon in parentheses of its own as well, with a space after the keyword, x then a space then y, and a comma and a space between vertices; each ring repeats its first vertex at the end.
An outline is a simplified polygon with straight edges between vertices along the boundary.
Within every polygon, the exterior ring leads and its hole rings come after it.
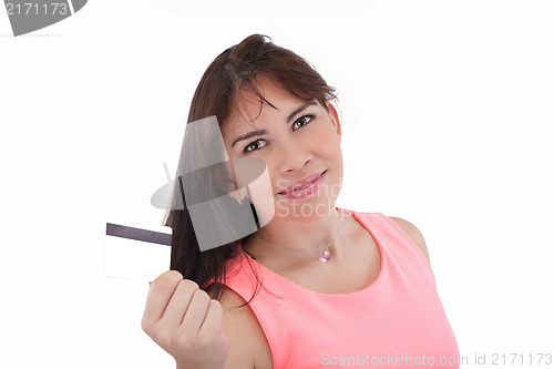
MULTIPOLYGON (((271 79, 301 100, 316 99, 326 110, 326 102, 337 99, 336 90, 305 59, 276 45, 267 35, 252 34, 222 52, 209 64, 194 93, 187 123, 215 115, 223 129, 232 109, 242 103, 245 93, 258 98, 261 110, 261 104, 269 102, 257 88, 256 79, 259 76, 271 79)), ((183 165, 182 161, 178 165, 183 165)), ((246 237, 201 252, 182 196, 183 188, 179 181, 175 184, 173 202, 181 203, 184 209, 172 206, 165 218, 165 225, 173 229, 171 269, 178 270, 184 278, 194 280, 204 289, 212 285, 206 283, 214 278, 212 298, 220 299, 228 271, 225 262, 238 254, 244 255, 240 252, 246 237)), ((254 207, 253 212, 255 214, 254 207)))

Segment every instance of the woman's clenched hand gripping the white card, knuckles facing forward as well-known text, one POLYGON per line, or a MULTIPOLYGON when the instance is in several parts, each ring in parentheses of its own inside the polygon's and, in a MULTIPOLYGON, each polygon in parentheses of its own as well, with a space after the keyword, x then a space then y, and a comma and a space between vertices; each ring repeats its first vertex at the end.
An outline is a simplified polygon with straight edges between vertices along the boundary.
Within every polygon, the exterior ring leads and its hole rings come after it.
POLYGON ((142 329, 175 358, 177 368, 225 368, 229 339, 219 301, 181 273, 163 273, 150 286, 142 329))

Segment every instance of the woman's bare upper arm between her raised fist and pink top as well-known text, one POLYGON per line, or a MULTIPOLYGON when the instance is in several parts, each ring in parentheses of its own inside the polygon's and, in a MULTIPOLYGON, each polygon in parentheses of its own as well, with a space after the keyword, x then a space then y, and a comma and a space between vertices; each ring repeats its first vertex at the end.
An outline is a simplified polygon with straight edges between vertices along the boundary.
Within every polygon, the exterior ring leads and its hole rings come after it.
MULTIPOLYGON (((219 300, 222 329, 229 338, 227 368, 273 369, 271 351, 258 319, 245 299, 228 287, 219 300), (242 307, 239 307, 242 306, 242 307)), ((212 294, 212 287, 206 290, 212 294)))

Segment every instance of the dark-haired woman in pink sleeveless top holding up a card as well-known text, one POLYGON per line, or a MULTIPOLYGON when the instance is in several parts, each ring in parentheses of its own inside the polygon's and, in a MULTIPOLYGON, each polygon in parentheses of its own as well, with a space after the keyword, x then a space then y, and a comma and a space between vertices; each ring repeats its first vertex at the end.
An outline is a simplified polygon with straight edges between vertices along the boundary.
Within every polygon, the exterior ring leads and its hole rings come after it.
MULTIPOLYGON (((177 368, 459 367, 420 232, 335 206, 343 170, 335 101, 302 58, 260 34, 204 73, 188 123, 216 116, 229 160, 265 163, 275 214, 201 252, 186 188, 175 187, 185 206, 166 219, 172 270, 151 285, 142 327, 177 368)), ((243 195, 256 216, 260 201, 243 195)))

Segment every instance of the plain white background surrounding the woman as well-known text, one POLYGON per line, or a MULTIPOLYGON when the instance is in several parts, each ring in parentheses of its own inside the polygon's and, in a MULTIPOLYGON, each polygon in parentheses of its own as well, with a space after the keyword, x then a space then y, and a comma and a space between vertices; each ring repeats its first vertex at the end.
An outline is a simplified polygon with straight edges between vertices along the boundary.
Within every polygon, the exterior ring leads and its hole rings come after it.
POLYGON ((161 222, 194 89, 252 33, 338 88, 337 205, 422 232, 466 367, 554 353, 552 1, 181 3, 94 0, 18 38, 0 14, 0 367, 173 367, 147 284, 102 275, 105 219, 161 222))

